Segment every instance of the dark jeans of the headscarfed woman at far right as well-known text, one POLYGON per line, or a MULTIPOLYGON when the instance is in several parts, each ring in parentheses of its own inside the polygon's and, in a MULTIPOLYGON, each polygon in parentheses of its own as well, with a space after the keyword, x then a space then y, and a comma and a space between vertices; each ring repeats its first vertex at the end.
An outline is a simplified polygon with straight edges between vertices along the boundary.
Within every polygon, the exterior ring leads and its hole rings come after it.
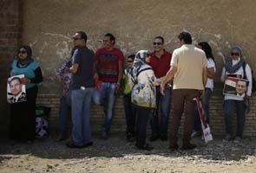
POLYGON ((226 99, 224 101, 226 134, 233 136, 233 114, 237 114, 236 136, 242 137, 246 123, 246 105, 244 100, 226 99))

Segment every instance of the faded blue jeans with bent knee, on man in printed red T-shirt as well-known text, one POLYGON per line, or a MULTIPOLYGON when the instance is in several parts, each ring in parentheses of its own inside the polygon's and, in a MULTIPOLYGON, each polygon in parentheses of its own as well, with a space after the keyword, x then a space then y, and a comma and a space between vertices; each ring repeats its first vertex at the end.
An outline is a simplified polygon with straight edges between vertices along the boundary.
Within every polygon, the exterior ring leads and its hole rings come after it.
POLYGON ((114 106, 115 106, 115 82, 103 82, 101 84, 101 91, 96 88, 94 91, 93 99, 96 105, 103 106, 105 113, 105 121, 102 125, 102 131, 108 132, 113 119, 114 106))

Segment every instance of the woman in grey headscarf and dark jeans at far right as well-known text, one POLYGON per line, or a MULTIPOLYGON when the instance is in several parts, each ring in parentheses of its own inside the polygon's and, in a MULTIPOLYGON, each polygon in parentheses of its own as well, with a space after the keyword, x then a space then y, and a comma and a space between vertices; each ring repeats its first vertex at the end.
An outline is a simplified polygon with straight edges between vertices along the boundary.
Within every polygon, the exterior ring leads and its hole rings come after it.
POLYGON ((224 95, 224 113, 226 125, 226 137, 224 142, 233 140, 235 143, 240 143, 246 122, 246 105, 252 94, 253 77, 251 67, 243 58, 242 48, 234 46, 231 48, 231 60, 226 61, 222 68, 220 80, 225 81, 226 77, 235 77, 248 80, 248 86, 245 97, 237 95, 224 95), (237 131, 233 136, 233 114, 237 114, 237 131))

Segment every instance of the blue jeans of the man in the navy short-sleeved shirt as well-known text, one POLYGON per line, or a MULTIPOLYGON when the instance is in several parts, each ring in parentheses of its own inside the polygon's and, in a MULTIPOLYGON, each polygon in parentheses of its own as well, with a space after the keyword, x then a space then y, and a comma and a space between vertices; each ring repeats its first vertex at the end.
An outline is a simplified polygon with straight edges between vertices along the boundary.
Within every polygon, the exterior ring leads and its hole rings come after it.
POLYGON ((90 102, 93 91, 93 87, 71 91, 72 138, 78 146, 90 142, 91 139, 90 102))

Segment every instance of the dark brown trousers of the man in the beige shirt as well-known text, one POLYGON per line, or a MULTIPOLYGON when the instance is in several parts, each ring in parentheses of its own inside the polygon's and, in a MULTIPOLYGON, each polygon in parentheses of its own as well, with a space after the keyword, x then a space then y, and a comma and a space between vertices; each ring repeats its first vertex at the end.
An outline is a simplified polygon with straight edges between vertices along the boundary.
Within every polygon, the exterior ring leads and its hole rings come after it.
POLYGON ((177 133, 181 124, 181 116, 184 111, 185 121, 183 126, 183 144, 189 143, 194 127, 194 98, 198 97, 199 95, 200 91, 195 89, 173 90, 174 119, 171 123, 170 129, 170 147, 174 147, 177 144, 177 133))

